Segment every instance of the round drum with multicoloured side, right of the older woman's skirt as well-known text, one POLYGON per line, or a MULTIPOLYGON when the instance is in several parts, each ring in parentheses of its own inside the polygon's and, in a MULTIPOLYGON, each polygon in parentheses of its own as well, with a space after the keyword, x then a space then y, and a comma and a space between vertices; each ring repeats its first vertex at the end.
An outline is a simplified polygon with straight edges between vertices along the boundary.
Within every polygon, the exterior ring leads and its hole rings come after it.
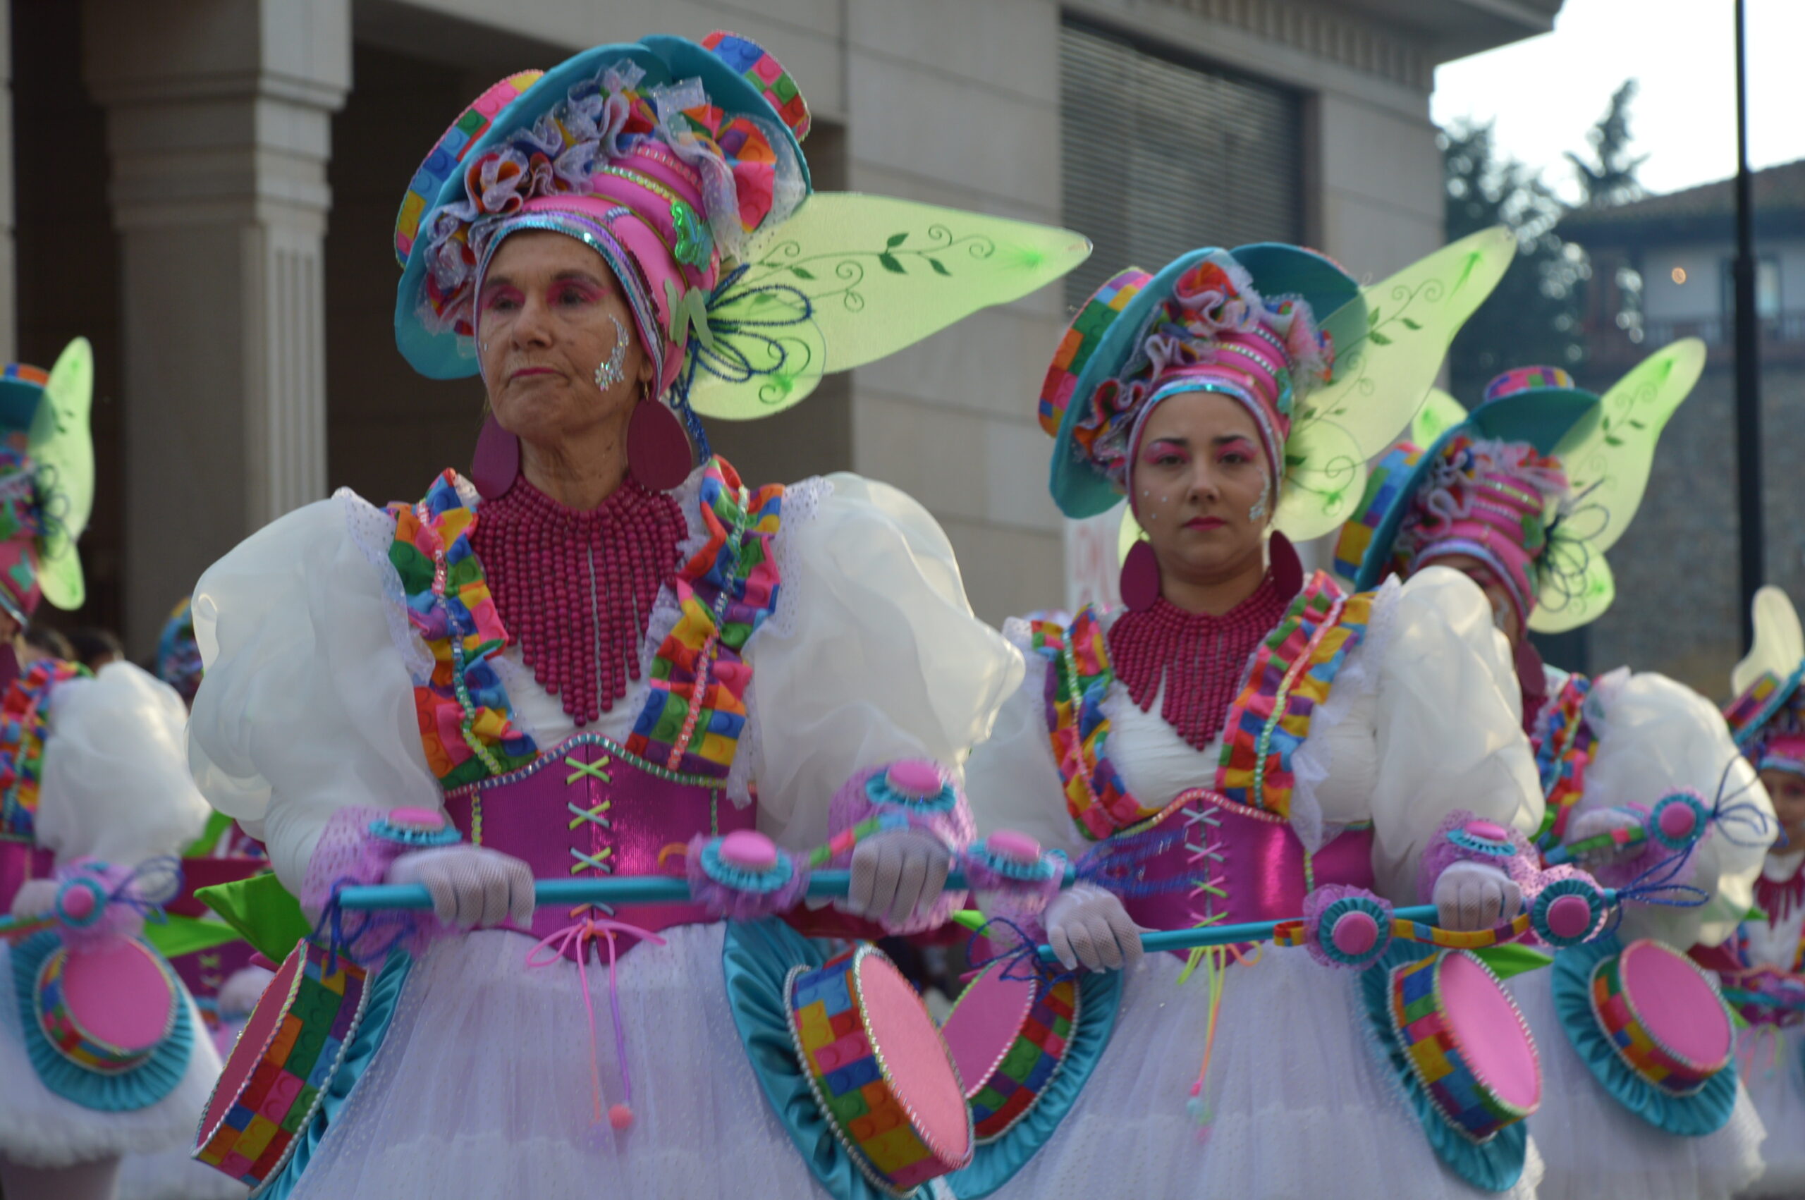
POLYGON ((902 973, 870 946, 785 980, 791 1041, 821 1113, 874 1187, 906 1196, 971 1162, 953 1059, 902 973))

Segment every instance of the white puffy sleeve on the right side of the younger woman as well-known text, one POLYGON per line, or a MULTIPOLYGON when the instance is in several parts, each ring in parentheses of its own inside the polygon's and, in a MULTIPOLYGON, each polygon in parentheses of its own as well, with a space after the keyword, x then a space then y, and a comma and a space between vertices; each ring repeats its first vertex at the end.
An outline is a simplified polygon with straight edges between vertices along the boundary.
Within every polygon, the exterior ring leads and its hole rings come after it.
POLYGON ((1386 628, 1372 704, 1374 873, 1393 902, 1415 904, 1417 863, 1442 819, 1466 808, 1534 835, 1541 789, 1516 675, 1478 585, 1430 567, 1381 594, 1372 623, 1386 628))

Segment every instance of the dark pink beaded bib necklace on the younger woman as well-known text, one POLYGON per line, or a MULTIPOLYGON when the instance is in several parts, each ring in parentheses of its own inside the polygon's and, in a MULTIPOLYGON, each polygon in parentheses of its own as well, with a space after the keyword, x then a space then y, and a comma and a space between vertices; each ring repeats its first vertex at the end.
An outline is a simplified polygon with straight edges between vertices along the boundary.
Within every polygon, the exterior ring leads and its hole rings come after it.
POLYGON ((1152 608, 1125 612, 1110 628, 1115 678, 1143 713, 1153 707, 1164 680, 1166 700, 1159 715, 1188 745, 1202 751, 1222 736, 1222 720, 1247 660, 1289 603, 1267 572, 1253 595, 1220 617, 1184 612, 1166 597, 1152 608))

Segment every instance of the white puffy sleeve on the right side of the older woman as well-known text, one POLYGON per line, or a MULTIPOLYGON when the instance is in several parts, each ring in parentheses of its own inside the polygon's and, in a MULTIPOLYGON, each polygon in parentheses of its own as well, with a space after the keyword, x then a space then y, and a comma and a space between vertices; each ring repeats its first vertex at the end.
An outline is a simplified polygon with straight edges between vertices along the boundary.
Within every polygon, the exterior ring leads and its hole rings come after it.
POLYGON ((958 561, 928 511, 857 475, 785 494, 782 595, 745 646, 760 828, 827 841, 848 776, 931 758, 958 778, 1022 678, 1016 650, 971 614, 958 561))

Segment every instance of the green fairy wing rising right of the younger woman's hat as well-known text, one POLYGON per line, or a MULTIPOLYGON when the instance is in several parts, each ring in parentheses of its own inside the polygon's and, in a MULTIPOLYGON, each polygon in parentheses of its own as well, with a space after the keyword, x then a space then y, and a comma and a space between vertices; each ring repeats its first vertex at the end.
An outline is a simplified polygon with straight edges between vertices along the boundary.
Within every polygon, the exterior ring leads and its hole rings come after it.
POLYGON ((1292 541, 1319 538, 1352 516, 1366 462, 1410 424, 1448 345, 1514 254, 1509 229, 1484 229, 1363 289, 1323 321, 1336 377, 1303 399, 1285 442, 1276 525, 1292 541))

